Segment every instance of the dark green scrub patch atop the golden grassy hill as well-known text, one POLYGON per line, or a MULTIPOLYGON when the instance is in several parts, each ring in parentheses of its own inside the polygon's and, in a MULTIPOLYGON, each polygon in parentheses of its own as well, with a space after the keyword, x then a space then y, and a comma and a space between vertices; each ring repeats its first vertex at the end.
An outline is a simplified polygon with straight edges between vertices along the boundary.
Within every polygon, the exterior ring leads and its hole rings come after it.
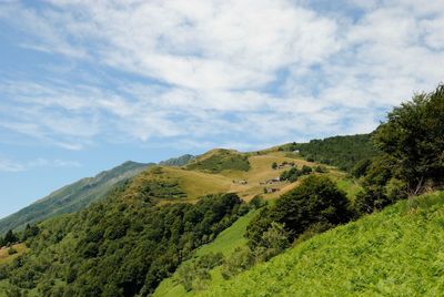
POLYGON ((225 170, 249 171, 250 162, 246 155, 230 150, 219 150, 204 160, 190 163, 186 168, 219 173, 225 170))

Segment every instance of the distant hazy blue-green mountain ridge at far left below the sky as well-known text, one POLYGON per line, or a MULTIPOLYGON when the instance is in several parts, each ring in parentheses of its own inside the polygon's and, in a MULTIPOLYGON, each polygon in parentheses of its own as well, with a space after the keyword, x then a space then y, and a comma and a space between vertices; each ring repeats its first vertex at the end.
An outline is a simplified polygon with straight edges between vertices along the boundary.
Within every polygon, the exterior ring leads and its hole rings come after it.
POLYGON ((154 164, 128 161, 112 170, 101 172, 94 177, 82 178, 57 190, 49 196, 0 219, 0 234, 4 234, 9 229, 22 229, 27 224, 60 214, 78 212, 92 202, 103 198, 114 185, 132 178, 152 165, 154 164))

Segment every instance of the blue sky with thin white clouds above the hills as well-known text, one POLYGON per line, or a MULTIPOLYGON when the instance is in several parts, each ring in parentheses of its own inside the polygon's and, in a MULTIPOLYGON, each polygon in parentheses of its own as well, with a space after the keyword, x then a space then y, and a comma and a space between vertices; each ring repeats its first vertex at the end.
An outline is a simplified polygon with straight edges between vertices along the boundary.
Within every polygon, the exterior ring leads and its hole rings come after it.
POLYGON ((444 0, 0 0, 0 217, 127 160, 371 132, 443 65, 444 0))

